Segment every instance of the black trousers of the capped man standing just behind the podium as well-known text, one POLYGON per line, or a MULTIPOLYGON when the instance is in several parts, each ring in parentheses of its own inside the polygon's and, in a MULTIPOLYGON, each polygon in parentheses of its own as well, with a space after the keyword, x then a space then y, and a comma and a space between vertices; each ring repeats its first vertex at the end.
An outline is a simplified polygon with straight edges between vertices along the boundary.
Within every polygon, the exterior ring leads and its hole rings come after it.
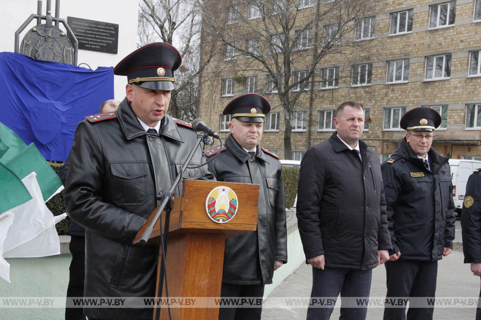
MULTIPOLYGON (((264 284, 222 284, 220 290, 222 298, 256 297, 264 296, 264 284)), ((256 300, 257 300, 256 299, 256 300)), ((227 306, 227 305, 226 305, 227 306)), ((245 305, 244 305, 245 306, 245 305)), ((227 307, 219 308, 219 320, 260 320, 262 313, 262 300, 260 306, 248 308, 227 307)))

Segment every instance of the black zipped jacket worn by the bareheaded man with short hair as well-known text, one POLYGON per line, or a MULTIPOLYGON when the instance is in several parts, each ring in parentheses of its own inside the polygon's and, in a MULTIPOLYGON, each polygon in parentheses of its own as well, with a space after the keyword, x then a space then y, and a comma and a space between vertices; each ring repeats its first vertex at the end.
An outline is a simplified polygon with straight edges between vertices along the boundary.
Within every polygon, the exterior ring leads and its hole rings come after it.
POLYGON ((301 161, 297 221, 305 258, 328 268, 372 269, 391 249, 378 155, 359 140, 362 162, 339 139, 310 148, 301 161))

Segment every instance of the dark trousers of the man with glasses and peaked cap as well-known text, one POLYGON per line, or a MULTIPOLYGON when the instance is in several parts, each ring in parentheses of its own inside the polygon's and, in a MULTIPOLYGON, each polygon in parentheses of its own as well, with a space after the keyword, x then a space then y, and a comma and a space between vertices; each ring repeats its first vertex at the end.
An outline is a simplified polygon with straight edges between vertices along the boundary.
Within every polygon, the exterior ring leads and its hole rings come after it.
MULTIPOLYGON (((402 252, 401 252, 402 254, 402 252)), ((434 297, 438 261, 397 260, 387 261, 386 284, 389 297, 434 297)), ((408 308, 408 320, 432 320, 434 306, 430 308, 408 308)), ((385 320, 405 320, 405 307, 384 308, 385 320)))

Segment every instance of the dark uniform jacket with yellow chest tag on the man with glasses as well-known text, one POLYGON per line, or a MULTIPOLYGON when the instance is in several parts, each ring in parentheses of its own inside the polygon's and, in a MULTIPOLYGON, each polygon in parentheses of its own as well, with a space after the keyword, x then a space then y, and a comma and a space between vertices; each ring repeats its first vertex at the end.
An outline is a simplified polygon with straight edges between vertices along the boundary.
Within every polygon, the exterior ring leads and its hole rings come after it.
POLYGON ((453 185, 448 158, 430 148, 430 170, 404 139, 381 165, 392 250, 399 259, 436 261, 453 248, 453 185))

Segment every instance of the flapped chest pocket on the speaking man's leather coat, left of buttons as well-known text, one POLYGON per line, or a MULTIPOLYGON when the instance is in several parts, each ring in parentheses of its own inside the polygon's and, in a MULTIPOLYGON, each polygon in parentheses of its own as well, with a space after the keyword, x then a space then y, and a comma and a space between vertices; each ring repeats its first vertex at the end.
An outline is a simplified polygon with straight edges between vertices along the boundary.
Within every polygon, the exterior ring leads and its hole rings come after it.
POLYGON ((111 194, 115 205, 142 205, 147 201, 147 169, 143 162, 111 163, 111 194))

